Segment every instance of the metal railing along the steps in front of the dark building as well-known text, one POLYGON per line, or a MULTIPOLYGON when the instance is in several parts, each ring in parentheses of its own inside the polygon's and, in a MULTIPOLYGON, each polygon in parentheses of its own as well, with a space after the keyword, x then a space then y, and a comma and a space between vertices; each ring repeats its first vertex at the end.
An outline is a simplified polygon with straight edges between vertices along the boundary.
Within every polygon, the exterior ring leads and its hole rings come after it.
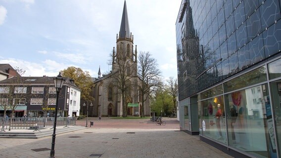
MULTIPOLYGON (((0 118, 0 129, 43 129, 53 127, 54 118, 0 118), (11 123, 10 123, 11 121, 11 123)), ((75 117, 59 117, 56 126, 75 125, 75 117)))

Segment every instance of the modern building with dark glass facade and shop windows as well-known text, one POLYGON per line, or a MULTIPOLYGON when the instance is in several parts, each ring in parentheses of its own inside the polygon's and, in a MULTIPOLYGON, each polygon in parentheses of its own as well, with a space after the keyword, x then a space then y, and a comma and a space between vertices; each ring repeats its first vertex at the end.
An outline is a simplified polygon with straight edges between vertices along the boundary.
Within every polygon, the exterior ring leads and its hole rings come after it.
POLYGON ((182 0, 176 36, 181 129, 281 158, 281 0, 182 0))

